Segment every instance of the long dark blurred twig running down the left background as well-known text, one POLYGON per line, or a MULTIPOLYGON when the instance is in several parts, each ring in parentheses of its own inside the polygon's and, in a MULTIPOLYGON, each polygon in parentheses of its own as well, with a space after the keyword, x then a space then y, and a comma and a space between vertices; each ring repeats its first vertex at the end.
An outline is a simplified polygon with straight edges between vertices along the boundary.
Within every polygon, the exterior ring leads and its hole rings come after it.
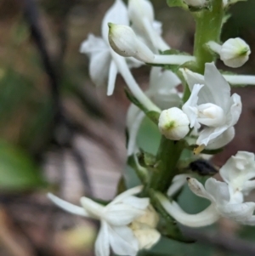
MULTIPOLYGON (((48 50, 46 48, 46 44, 44 38, 42 36, 42 30, 39 25, 39 12, 37 9, 37 4, 34 0, 25 0, 25 16, 26 20, 31 28, 31 36, 34 42, 37 45, 37 48, 42 57, 42 64, 44 66, 45 71, 48 74, 50 79, 50 88, 51 94, 53 98, 53 108, 54 108, 54 124, 53 124, 53 142, 56 145, 59 145, 61 148, 65 148, 66 146, 71 148, 73 151, 72 154, 77 160, 77 165, 79 166, 80 175, 82 177, 82 181, 87 188, 88 193, 91 193, 91 187, 88 180, 88 175, 84 166, 84 160, 79 151, 72 147, 72 139, 76 132, 76 128, 73 124, 67 120, 65 117, 65 113, 63 112, 63 108, 60 102, 60 94, 59 94, 59 76, 58 71, 55 69, 53 61, 50 59, 48 54, 48 50), (64 134, 62 133, 64 131, 64 134), (65 136, 66 135, 66 136, 65 136)), ((63 24, 64 26, 65 24, 63 24)), ((65 29, 62 27, 62 31, 65 29)), ((64 41, 66 41, 67 35, 64 35, 64 41)), ((62 42, 63 40, 61 40, 62 42)), ((63 43, 62 43, 63 44, 63 43)), ((61 46, 61 48, 65 48, 65 43, 61 46)), ((64 54, 64 53, 63 53, 64 54)), ((61 57, 63 60, 64 55, 61 57)))

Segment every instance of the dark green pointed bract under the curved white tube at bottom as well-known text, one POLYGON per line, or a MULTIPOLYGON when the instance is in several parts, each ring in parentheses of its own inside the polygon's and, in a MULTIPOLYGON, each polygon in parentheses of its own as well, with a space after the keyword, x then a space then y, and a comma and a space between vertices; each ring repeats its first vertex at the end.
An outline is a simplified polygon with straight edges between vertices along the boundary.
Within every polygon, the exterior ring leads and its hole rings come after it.
MULTIPOLYGON (((157 212, 161 216, 160 223, 158 225, 158 230, 161 232, 161 235, 179 242, 195 242, 194 240, 191 240, 190 238, 185 237, 182 234, 181 230, 179 230, 178 228, 175 219, 173 219, 173 217, 170 216, 167 211, 161 206, 161 202, 156 197, 156 193, 161 194, 160 192, 153 191, 152 189, 150 189, 149 191, 151 204, 154 208, 157 209, 157 212)), ((163 196, 163 194, 161 195, 163 196)))

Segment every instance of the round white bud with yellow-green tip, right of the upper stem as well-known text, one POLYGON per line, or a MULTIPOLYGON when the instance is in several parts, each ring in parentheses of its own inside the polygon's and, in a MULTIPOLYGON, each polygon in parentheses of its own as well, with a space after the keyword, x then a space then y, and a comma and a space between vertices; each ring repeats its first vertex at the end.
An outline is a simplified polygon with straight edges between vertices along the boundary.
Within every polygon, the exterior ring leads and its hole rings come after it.
POLYGON ((227 40, 220 50, 220 60, 230 67, 240 67, 249 59, 251 49, 249 45, 239 37, 227 40))

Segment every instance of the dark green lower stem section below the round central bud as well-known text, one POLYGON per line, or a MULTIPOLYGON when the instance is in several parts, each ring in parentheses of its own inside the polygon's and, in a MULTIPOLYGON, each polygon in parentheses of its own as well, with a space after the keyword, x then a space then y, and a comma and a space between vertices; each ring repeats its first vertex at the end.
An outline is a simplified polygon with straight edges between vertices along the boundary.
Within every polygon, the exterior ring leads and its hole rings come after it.
POLYGON ((176 165, 183 149, 184 141, 173 141, 161 136, 161 145, 156 156, 156 171, 150 176, 150 189, 167 192, 177 172, 176 165))

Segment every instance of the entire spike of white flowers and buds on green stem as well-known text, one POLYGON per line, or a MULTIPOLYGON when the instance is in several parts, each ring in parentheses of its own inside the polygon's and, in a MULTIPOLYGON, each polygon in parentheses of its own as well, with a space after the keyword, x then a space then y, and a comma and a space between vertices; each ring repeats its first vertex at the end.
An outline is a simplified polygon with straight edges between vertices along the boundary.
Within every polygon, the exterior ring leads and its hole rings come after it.
POLYGON ((242 104, 240 95, 231 94, 231 86, 255 84, 255 76, 224 74, 215 65, 218 58, 224 65, 240 67, 251 54, 248 44, 239 37, 219 41, 224 12, 238 1, 167 1, 195 13, 200 30, 195 33, 194 55, 173 50, 164 41, 161 23, 155 20, 149 0, 129 0, 127 5, 116 0, 103 19, 102 37, 90 34, 82 43, 80 50, 88 55, 89 74, 95 85, 106 84, 107 95, 113 94, 118 73, 127 84, 127 96, 132 101, 127 110, 127 163, 142 184, 107 205, 82 197, 82 207, 77 207, 48 194, 60 208, 100 221, 97 256, 109 256, 111 249, 118 255, 131 256, 150 249, 163 234, 158 223, 171 225, 171 218, 190 227, 211 225, 220 217, 255 225, 255 202, 245 202, 245 196, 255 188, 254 154, 239 151, 231 156, 219 169, 224 181, 209 178, 202 185, 189 173, 193 171, 190 163, 206 158, 202 153, 214 154, 235 137, 242 104), (151 67, 149 86, 144 91, 131 71, 141 65, 151 67), (150 149, 140 150, 137 144, 145 116, 161 134, 156 156, 148 153, 150 149), (186 151, 189 154, 183 159, 186 151), (211 202, 201 213, 185 213, 173 197, 186 180, 190 191, 211 202), (144 198, 134 196, 140 192, 144 198))

